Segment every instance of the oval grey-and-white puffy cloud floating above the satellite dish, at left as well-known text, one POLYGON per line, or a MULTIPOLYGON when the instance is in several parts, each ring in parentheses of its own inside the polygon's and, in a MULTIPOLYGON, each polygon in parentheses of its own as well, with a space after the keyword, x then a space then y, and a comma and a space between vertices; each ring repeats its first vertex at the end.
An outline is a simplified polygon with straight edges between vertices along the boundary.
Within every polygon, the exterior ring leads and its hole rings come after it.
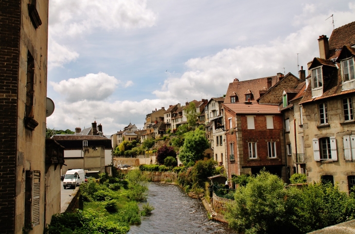
POLYGON ((68 101, 104 100, 110 96, 120 83, 115 77, 106 73, 87 74, 59 83, 51 82, 54 91, 65 96, 68 101))

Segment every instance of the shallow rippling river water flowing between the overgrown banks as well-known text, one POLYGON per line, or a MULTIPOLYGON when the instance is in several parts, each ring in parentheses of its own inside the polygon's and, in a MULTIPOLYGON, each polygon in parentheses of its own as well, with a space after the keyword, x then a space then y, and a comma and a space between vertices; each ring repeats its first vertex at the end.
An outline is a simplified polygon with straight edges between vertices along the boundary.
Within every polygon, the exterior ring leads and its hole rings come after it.
POLYGON ((150 183, 147 201, 155 210, 128 234, 235 234, 227 224, 208 220, 202 202, 176 185, 150 183))

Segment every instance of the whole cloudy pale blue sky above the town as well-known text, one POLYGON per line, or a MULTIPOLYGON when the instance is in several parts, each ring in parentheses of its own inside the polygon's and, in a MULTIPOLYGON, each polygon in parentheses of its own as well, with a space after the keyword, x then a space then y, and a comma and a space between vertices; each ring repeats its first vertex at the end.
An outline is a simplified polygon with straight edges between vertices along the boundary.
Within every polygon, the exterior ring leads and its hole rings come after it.
POLYGON ((331 35, 331 15, 335 28, 353 22, 355 3, 50 0, 47 127, 96 120, 110 136, 142 129, 156 108, 220 97, 235 78, 298 76, 331 35))

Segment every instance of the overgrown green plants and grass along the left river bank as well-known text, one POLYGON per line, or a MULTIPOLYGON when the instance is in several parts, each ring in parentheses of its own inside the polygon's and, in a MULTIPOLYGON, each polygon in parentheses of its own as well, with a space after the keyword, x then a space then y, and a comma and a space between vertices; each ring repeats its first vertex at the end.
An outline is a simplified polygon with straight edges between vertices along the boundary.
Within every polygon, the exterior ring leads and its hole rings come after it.
POLYGON ((80 185, 83 210, 63 213, 52 217, 47 230, 49 234, 125 234, 129 225, 141 223, 141 215, 150 215, 154 210, 146 201, 146 179, 139 170, 128 172, 125 179, 100 174, 100 182, 89 179, 80 185))

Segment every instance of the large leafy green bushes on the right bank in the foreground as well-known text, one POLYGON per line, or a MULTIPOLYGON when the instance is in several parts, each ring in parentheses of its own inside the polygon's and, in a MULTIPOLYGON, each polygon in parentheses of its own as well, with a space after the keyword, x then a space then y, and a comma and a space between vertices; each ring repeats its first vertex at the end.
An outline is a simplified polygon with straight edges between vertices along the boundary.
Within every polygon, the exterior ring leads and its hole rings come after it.
POLYGON ((355 197, 332 184, 285 187, 283 180, 262 170, 239 186, 226 218, 239 233, 301 234, 355 217, 355 197))

